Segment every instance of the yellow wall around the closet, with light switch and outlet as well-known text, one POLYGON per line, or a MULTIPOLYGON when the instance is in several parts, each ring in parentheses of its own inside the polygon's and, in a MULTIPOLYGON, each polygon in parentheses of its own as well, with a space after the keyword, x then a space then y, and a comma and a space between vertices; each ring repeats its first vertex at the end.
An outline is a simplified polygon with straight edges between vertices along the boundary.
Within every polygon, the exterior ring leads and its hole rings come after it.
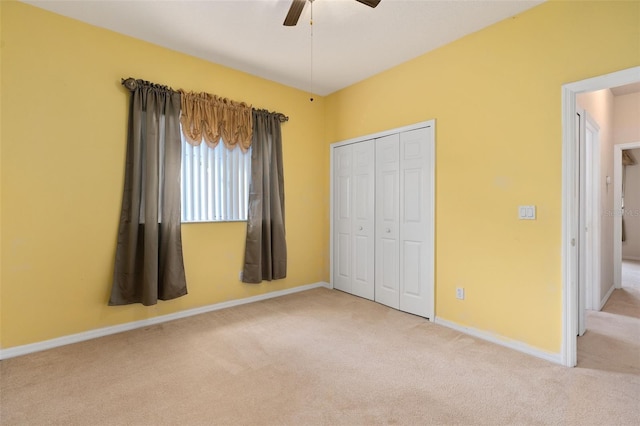
POLYGON ((552 2, 326 98, 328 143, 436 119, 437 317, 560 352, 561 86, 637 65, 639 2, 552 2))

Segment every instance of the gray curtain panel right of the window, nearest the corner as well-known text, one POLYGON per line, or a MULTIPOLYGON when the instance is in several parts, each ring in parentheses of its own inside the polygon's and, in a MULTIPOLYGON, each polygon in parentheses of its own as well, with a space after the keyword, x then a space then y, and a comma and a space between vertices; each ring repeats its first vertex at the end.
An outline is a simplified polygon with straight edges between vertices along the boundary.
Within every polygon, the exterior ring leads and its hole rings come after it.
POLYGON ((260 283, 287 276, 281 114, 254 110, 251 186, 242 281, 260 283))

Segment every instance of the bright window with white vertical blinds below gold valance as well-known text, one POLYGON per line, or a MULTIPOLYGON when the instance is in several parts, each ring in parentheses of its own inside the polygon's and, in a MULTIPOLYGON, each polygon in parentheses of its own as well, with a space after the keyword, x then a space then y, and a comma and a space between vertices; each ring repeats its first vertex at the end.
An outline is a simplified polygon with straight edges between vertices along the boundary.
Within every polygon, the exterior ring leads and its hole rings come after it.
POLYGON ((183 223, 247 220, 251 148, 193 146, 182 135, 181 173, 183 223))

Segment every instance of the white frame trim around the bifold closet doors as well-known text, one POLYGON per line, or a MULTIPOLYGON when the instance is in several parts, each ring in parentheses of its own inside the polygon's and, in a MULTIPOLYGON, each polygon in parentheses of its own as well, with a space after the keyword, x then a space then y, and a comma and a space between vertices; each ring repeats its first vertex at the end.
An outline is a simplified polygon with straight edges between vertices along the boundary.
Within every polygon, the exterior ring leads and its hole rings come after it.
POLYGON ((351 138, 351 139, 346 139, 343 141, 339 141, 339 142, 334 142, 331 143, 329 145, 329 285, 330 287, 333 289, 333 254, 334 254, 334 241, 333 241, 333 231, 334 231, 334 224, 333 224, 333 208, 334 208, 334 202, 333 202, 333 196, 334 196, 334 191, 333 191, 333 174, 334 174, 334 150, 335 148, 344 146, 344 145, 349 145, 349 144, 354 144, 354 143, 358 143, 358 142, 363 142, 369 139, 377 139, 377 138, 382 138, 384 136, 389 136, 392 135, 394 133, 402 133, 402 132, 406 132, 409 130, 416 130, 416 129, 422 129, 422 128, 429 128, 430 132, 431 132, 431 138, 433 140, 433 146, 432 146, 432 152, 431 152, 431 164, 430 164, 430 172, 431 172, 431 198, 429 200, 430 202, 430 208, 431 208, 431 223, 429 225, 429 231, 430 231, 430 241, 428 241, 429 246, 431 247, 431 252, 432 252, 432 258, 430 259, 430 263, 432 265, 431 268, 431 288, 430 288, 430 293, 431 293, 431 303, 429 306, 429 312, 430 312, 430 316, 429 321, 435 321, 436 318, 436 309, 435 309, 435 303, 436 303, 436 275, 435 275, 435 254, 436 254, 436 245, 435 245, 435 240, 436 240, 436 228, 435 228, 435 222, 436 222, 436 210, 435 210, 435 206, 436 206, 436 120, 435 119, 431 119, 431 120, 425 120, 425 121, 420 121, 418 123, 414 123, 414 124, 409 124, 407 126, 402 126, 402 127, 396 127, 394 129, 389 129, 389 130, 383 130, 380 132, 376 132, 376 133, 371 133, 368 135, 364 135, 364 136, 357 136, 355 138, 351 138))

